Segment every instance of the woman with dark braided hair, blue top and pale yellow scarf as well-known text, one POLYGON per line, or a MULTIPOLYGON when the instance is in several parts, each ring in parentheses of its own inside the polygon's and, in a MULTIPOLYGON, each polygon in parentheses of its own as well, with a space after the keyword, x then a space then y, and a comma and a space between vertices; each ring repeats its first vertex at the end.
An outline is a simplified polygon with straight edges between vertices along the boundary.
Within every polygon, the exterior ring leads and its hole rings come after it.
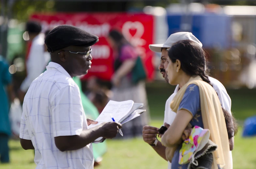
POLYGON ((172 168, 187 169, 179 164, 182 135, 188 125, 210 130, 210 140, 218 147, 212 153, 213 163, 209 168, 230 169, 230 146, 225 118, 217 93, 207 74, 207 61, 203 49, 195 42, 183 40, 168 51, 169 83, 179 85, 171 109, 177 113, 173 123, 162 136, 162 144, 172 168))

